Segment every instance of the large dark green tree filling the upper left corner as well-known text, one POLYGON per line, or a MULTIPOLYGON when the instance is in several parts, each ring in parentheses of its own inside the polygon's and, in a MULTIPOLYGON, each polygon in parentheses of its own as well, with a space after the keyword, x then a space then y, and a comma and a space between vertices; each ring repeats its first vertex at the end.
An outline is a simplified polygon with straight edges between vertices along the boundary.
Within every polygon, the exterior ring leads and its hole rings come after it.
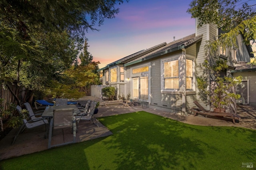
POLYGON ((119 12, 116 3, 123 0, 2 0, 0 81, 17 80, 33 90, 49 79, 61 79, 60 73, 76 59, 86 31, 114 18, 119 12))

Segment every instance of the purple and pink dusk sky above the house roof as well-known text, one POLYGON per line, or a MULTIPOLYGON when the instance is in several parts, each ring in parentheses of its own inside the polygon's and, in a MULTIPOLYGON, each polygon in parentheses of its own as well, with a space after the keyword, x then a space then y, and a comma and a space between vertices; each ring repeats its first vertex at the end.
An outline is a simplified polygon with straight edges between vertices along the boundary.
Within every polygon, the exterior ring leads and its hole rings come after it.
POLYGON ((116 18, 86 34, 88 51, 105 67, 122 57, 195 33, 195 19, 186 11, 191 0, 130 0, 117 5, 116 18))

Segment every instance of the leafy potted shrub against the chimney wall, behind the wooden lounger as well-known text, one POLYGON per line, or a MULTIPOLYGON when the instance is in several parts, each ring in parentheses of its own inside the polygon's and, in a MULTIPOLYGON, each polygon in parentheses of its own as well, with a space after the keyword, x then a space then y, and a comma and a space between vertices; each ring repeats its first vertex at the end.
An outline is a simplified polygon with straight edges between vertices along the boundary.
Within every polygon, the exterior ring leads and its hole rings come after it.
POLYGON ((228 68, 226 60, 218 59, 215 61, 215 64, 210 64, 206 60, 203 66, 214 81, 210 81, 209 90, 209 76, 197 77, 196 80, 200 91, 199 95, 202 100, 210 99, 214 111, 225 112, 229 107, 232 98, 236 100, 240 98, 240 95, 236 94, 234 89, 236 85, 241 83, 242 77, 239 76, 233 78, 229 76, 220 76, 220 73, 228 68))

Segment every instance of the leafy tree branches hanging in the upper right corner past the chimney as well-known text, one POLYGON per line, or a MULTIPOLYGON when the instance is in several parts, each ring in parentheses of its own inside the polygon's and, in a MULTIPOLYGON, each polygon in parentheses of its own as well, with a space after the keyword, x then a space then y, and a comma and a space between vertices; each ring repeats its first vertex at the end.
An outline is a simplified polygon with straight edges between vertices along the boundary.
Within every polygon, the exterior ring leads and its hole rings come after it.
MULTIPOLYGON (((256 4, 249 0, 193 0, 187 10, 192 18, 198 18, 198 26, 216 24, 225 33, 214 42, 208 42, 210 53, 218 47, 237 47, 236 37, 241 34, 244 43, 251 45, 256 40, 256 4)), ((254 51, 255 53, 255 51, 254 51)), ((256 64, 256 62, 254 62, 256 64)))

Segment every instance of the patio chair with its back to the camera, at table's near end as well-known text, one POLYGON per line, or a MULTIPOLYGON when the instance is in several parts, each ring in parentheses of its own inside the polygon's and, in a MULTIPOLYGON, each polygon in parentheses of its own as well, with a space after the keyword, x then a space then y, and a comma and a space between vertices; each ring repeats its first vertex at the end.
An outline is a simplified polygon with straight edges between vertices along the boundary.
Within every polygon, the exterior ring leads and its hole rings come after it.
POLYGON ((62 146, 76 142, 76 119, 74 117, 74 109, 56 109, 53 112, 53 119, 50 121, 50 131, 48 140, 48 149, 56 146, 62 146), (73 141, 51 145, 52 132, 56 129, 72 128, 73 141))

